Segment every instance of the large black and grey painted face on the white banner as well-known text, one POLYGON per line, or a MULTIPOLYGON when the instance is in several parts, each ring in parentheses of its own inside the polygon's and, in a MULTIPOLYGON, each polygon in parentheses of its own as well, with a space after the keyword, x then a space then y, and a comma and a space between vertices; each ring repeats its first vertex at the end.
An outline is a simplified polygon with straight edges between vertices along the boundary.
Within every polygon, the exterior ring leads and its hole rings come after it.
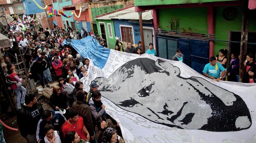
POLYGON ((249 109, 239 95, 199 77, 183 78, 178 67, 160 59, 134 59, 108 79, 94 81, 102 96, 155 123, 213 132, 251 126, 249 109))

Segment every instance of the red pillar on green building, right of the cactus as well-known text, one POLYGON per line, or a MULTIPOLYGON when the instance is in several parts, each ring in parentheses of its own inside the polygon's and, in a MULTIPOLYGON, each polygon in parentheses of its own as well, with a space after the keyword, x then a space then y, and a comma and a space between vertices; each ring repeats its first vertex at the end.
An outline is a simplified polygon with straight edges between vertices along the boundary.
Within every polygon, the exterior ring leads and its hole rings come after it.
MULTIPOLYGON (((215 34, 214 31, 213 6, 207 7, 207 33, 215 34)), ((214 56, 214 41, 209 41, 209 58, 214 56)))

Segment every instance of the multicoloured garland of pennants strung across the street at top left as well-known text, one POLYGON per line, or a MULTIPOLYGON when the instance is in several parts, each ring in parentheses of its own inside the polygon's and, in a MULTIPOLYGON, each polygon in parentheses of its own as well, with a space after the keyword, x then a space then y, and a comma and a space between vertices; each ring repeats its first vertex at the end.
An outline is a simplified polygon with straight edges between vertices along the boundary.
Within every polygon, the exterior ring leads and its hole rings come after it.
POLYGON ((51 8, 50 6, 47 6, 47 5, 43 8, 43 7, 41 7, 35 0, 32 0, 32 1, 33 1, 33 2, 38 6, 38 8, 40 8, 40 9, 45 10, 45 9, 48 7, 48 10, 49 10, 48 17, 53 17, 53 15, 62 15, 62 16, 64 16, 64 17, 70 18, 70 17, 72 17, 73 15, 75 15, 77 18, 79 18, 80 15, 81 15, 81 12, 85 11, 86 8, 87 8, 87 3, 86 3, 85 6, 79 8, 79 15, 76 15, 76 12, 75 12, 75 11, 72 11, 70 15, 66 15, 66 14, 63 13, 62 10, 53 9, 53 8, 51 8))

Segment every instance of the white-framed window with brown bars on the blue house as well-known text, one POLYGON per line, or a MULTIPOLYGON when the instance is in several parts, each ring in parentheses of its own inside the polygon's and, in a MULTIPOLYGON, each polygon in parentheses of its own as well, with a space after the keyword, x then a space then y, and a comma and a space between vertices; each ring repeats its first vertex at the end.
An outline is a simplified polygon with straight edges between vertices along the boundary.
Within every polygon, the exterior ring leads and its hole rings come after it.
POLYGON ((122 41, 131 42, 131 44, 134 44, 132 27, 120 26, 120 29, 121 29, 122 41))

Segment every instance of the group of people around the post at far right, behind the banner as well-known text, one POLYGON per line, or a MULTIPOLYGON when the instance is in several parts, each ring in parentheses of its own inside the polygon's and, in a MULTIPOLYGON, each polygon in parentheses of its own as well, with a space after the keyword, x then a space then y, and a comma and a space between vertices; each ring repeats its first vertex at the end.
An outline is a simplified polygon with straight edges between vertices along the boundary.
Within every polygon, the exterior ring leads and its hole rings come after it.
MULTIPOLYGON (((216 81, 225 80, 227 76, 228 81, 239 82, 239 61, 240 55, 231 53, 229 63, 229 70, 227 71, 227 50, 219 50, 219 54, 212 56, 210 62, 204 66, 203 74, 210 79, 216 81)), ((256 83, 256 62, 253 55, 248 53, 246 60, 243 62, 245 76, 242 79, 244 83, 256 83), (255 74, 254 74, 255 73, 255 74)))

